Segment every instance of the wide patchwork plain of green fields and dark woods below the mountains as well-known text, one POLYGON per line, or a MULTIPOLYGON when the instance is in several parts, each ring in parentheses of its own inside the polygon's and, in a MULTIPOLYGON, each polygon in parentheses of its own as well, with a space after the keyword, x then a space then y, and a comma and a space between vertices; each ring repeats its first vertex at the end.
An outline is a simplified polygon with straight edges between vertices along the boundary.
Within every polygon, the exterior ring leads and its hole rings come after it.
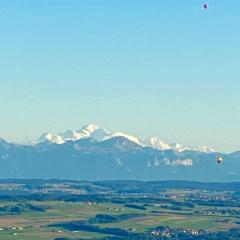
POLYGON ((167 184, 3 181, 0 240, 240 239, 238 185, 167 184))

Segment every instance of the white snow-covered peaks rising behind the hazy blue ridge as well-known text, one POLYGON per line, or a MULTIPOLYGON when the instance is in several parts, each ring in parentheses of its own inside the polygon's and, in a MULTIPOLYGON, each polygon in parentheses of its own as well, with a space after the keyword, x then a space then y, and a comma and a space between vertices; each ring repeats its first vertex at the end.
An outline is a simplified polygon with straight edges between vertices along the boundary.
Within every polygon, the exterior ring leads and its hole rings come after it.
POLYGON ((56 144, 64 144, 68 141, 77 141, 80 139, 87 139, 87 138, 92 138, 94 140, 101 142, 101 141, 112 139, 114 137, 123 137, 128 139, 131 142, 134 142, 140 145, 141 147, 151 147, 158 150, 174 150, 176 152, 183 152, 186 150, 199 151, 199 152, 205 152, 205 153, 215 152, 214 149, 205 147, 205 146, 200 146, 200 147, 186 146, 178 143, 166 143, 157 137, 152 137, 149 139, 141 139, 136 136, 132 136, 130 134, 123 133, 123 132, 118 132, 118 131, 109 132, 104 128, 100 128, 96 124, 92 124, 92 123, 85 125, 84 127, 76 131, 69 129, 65 132, 60 132, 58 134, 44 133, 37 140, 37 143, 51 142, 56 144))

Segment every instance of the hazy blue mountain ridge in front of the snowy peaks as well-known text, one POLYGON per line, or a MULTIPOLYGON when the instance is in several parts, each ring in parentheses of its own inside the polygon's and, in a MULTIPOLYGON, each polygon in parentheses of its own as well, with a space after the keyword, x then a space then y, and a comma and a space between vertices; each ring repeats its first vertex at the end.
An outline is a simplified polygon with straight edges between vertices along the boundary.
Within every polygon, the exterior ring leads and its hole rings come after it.
MULTIPOLYGON (((97 128, 99 129, 99 128, 97 128)), ((99 130, 98 130, 99 131, 99 130)), ((101 131, 102 132, 102 131, 101 131)), ((240 154, 158 149, 116 134, 35 145, 0 141, 0 178, 240 181, 240 154)))

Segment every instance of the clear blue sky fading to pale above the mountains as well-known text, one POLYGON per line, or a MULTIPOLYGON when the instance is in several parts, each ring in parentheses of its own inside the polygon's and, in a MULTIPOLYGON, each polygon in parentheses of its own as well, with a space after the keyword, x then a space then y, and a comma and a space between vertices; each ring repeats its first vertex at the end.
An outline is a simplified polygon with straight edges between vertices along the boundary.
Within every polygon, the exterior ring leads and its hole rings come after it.
POLYGON ((240 1, 1 0, 0 136, 94 122, 240 149, 240 1))

